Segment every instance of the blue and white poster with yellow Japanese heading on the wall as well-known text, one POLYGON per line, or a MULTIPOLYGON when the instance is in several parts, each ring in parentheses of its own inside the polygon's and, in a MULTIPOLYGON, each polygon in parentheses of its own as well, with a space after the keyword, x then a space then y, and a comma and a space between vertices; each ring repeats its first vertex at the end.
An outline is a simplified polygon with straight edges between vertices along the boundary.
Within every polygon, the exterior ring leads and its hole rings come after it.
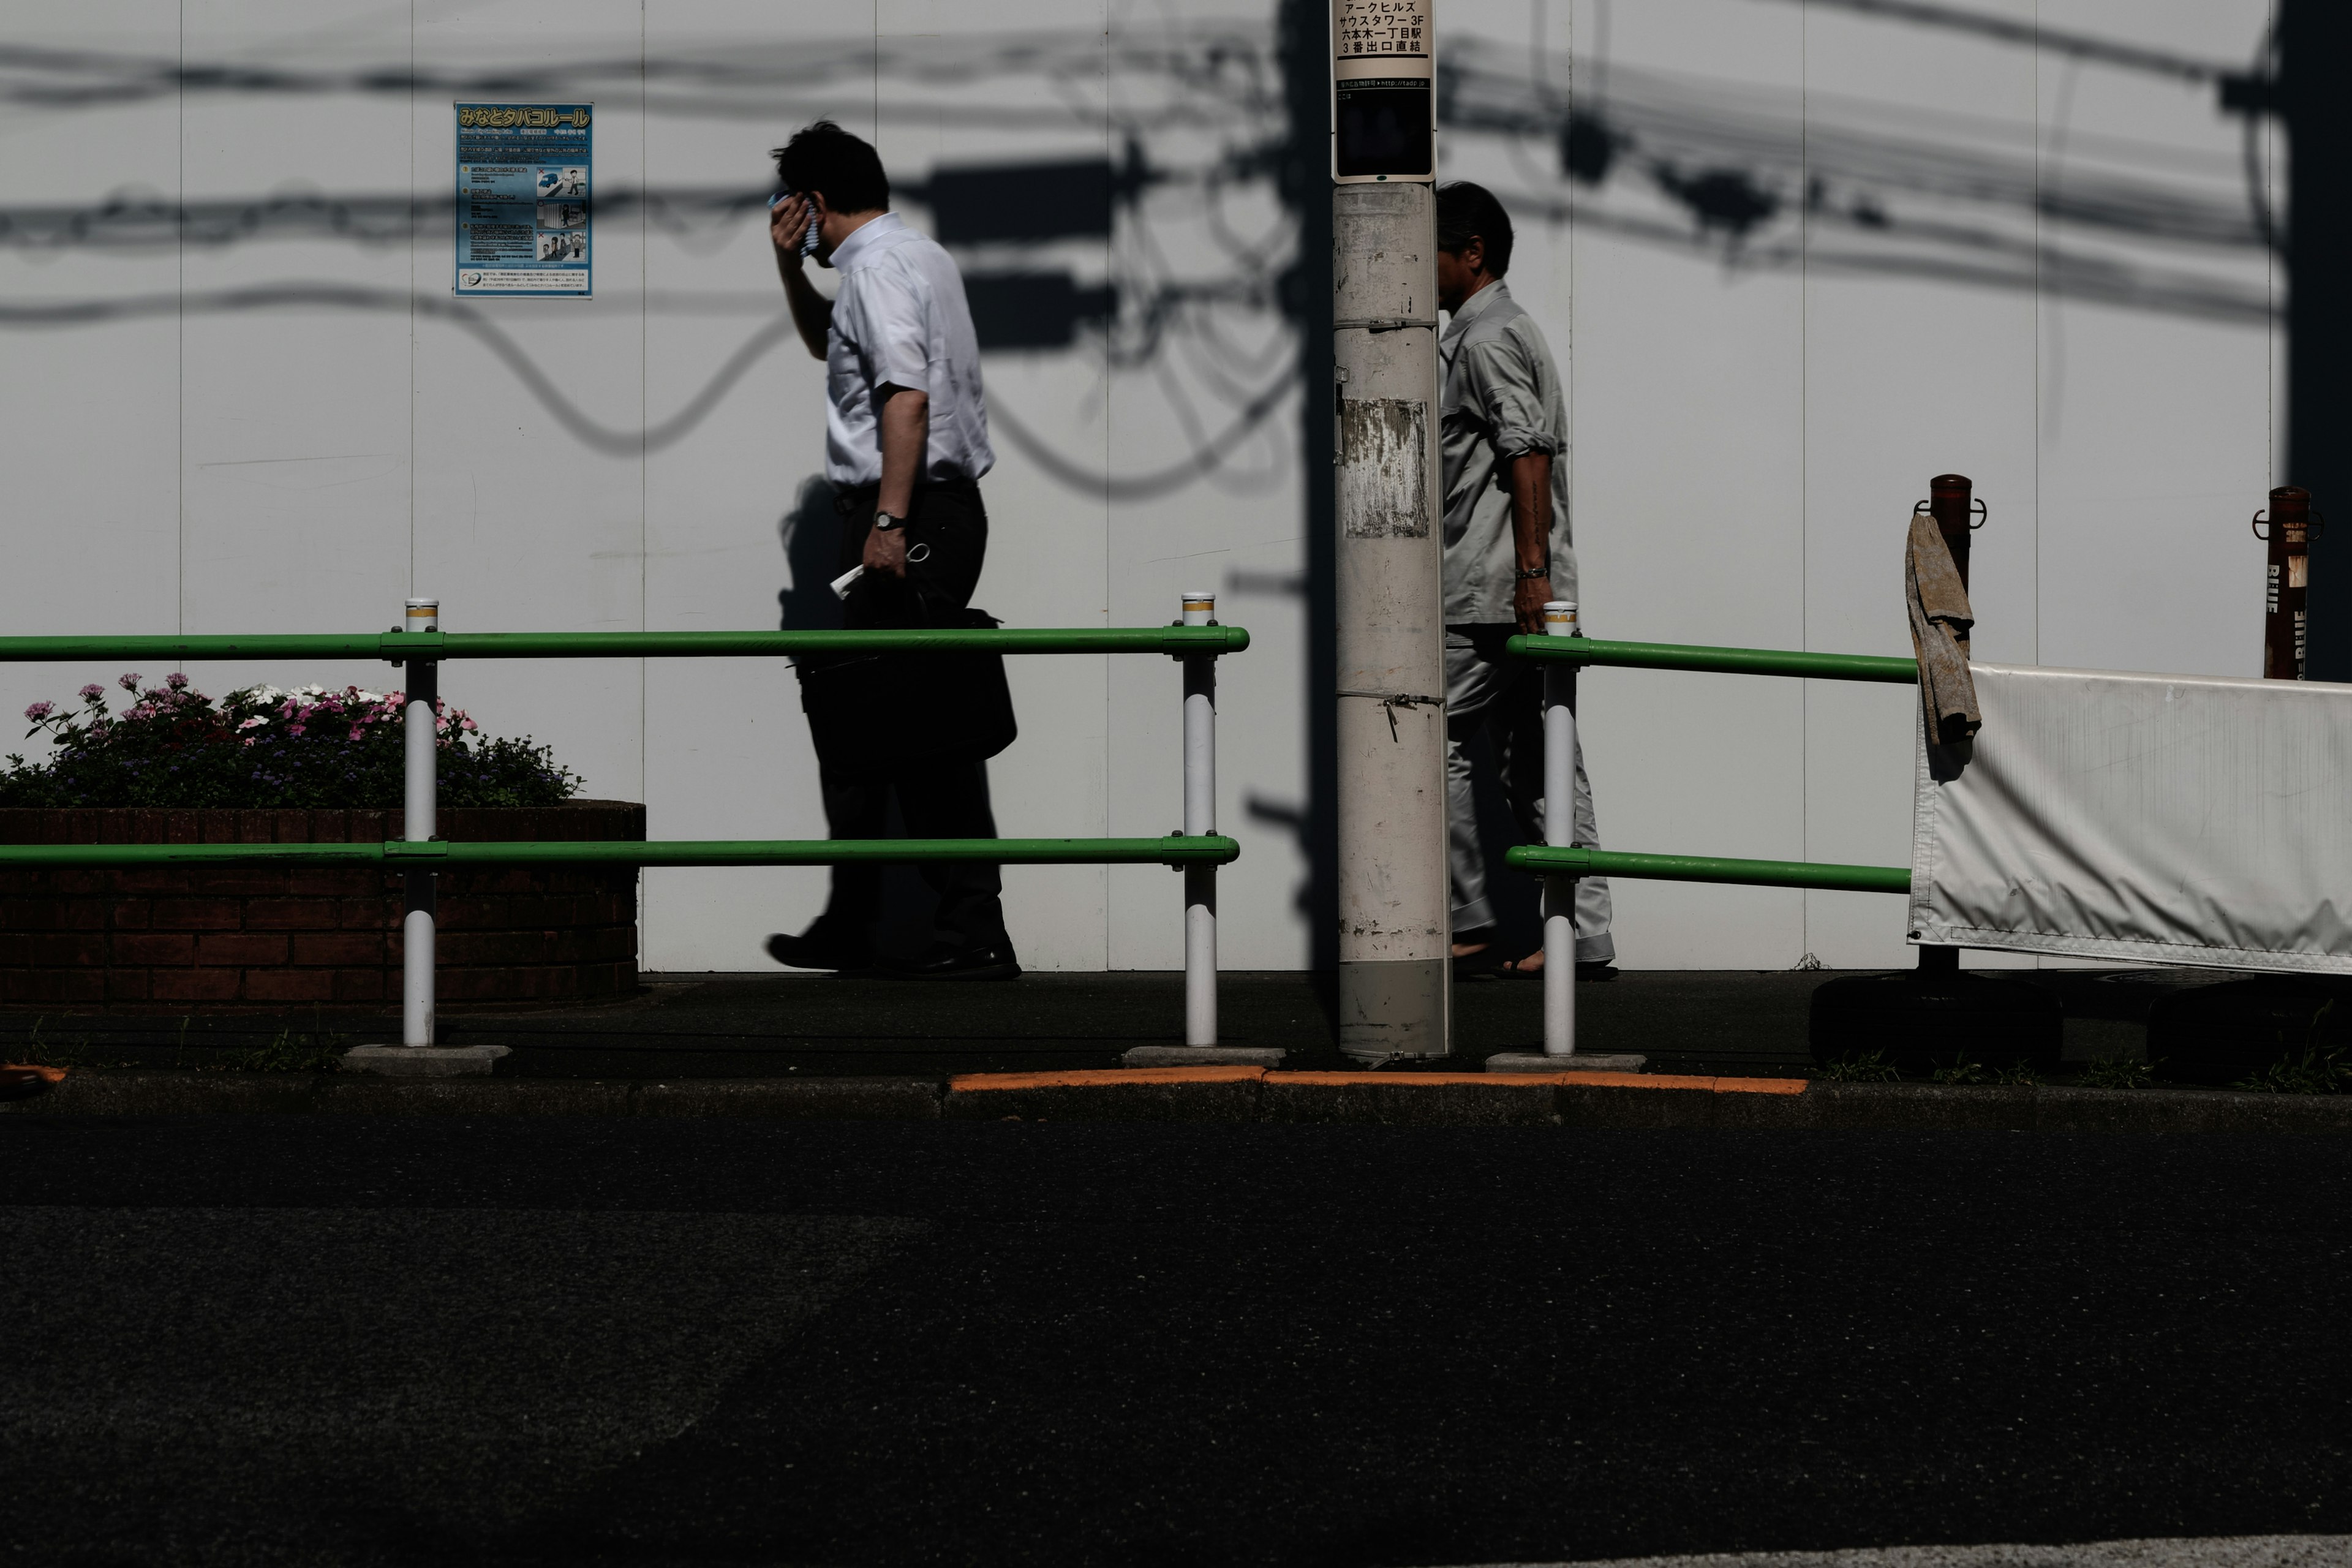
POLYGON ((588 103, 456 106, 456 292, 590 294, 588 103))

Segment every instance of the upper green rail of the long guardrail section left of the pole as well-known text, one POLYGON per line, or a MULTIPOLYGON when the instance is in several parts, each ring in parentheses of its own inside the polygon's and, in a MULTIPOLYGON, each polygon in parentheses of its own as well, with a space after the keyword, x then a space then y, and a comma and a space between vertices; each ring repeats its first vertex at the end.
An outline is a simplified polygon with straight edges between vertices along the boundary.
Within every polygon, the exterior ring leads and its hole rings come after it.
POLYGON ((889 632, 367 632, 254 637, 0 637, 0 663, 87 658, 776 658, 793 654, 1240 654, 1240 625, 889 632))

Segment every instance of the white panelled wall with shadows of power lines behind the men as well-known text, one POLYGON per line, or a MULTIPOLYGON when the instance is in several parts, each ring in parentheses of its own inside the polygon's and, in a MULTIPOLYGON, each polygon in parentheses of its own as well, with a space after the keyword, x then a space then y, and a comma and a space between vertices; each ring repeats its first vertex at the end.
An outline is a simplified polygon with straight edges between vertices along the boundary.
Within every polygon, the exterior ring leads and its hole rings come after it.
MULTIPOLYGON (((828 113, 880 143, 922 228, 943 172, 1091 160, 1115 172, 1108 233, 955 242, 967 275, 1065 280, 1077 301, 1058 331, 985 353, 1000 468, 976 602, 1018 625, 1138 625, 1183 588, 1221 592, 1256 637, 1223 668, 1218 809, 1244 842, 1225 957, 1305 964, 1303 825, 1329 811, 1308 578, 1329 520, 1305 515, 1322 491, 1301 423, 1322 416, 1322 341, 1284 296, 1287 202, 1319 193, 1287 197, 1268 158, 1291 134, 1279 16, 1279 0, 19 5, 0 38, 52 63, 0 80, 5 621, 365 630, 407 592, 437 592, 463 630, 774 625, 779 592, 821 611, 788 536, 804 527, 807 550, 833 527, 802 508, 823 378, 781 331, 764 150, 828 113), (454 308, 449 103, 485 82, 597 106, 593 301, 454 308)), ((2251 230, 2244 127, 2209 75, 2074 40, 2241 66, 2265 16, 2265 0, 1950 16, 1446 0, 1442 160, 1512 207, 1512 292, 1569 376, 1588 625, 1903 651, 1903 517, 1959 470, 1992 508, 1973 562, 1985 656, 2246 672, 2244 520, 2272 480, 2284 284, 2251 230), (1578 179, 1571 103, 1606 127, 1578 179)), ((0 703, 111 675, 7 668, 0 703)), ((1007 832, 1174 827, 1174 665, 1030 658, 1014 684, 1023 741, 993 766, 1007 832)), ((647 799, 656 835, 823 832, 781 665, 459 665, 449 689, 553 743, 593 792, 647 799)), ((1910 703, 1597 672, 1604 839, 1898 863, 1910 703)), ((823 889, 816 870, 656 872, 647 964, 755 966, 823 889)), ((1033 966, 1157 969, 1181 950, 1157 867, 1023 867, 1007 903, 1033 966)), ((1886 898, 1618 884, 1618 910, 1632 966, 1903 959, 1886 898)))

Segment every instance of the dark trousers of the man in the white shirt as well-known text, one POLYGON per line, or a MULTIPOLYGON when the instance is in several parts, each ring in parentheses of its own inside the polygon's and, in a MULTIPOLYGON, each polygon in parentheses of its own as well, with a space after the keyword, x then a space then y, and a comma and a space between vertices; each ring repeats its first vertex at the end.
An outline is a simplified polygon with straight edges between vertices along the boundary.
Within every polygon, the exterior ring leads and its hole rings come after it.
MULTIPOLYGON (((875 522, 875 487, 842 491, 842 552, 837 571, 866 557, 875 522)), ((868 571, 842 607, 847 630, 929 625, 943 609, 971 604, 988 557, 988 508, 981 487, 917 484, 906 520, 910 559, 906 581, 868 571)), ((826 823, 835 839, 880 839, 889 823, 891 795, 915 839, 993 839, 997 818, 988 809, 985 762, 903 762, 856 766, 847 757, 818 757, 816 776, 826 795, 826 823)), ((1011 947, 1004 931, 1004 889, 995 865, 978 860, 924 863, 922 879, 938 893, 934 938, 950 947, 1011 947)), ((870 936, 882 914, 882 867, 835 865, 826 922, 870 936)))

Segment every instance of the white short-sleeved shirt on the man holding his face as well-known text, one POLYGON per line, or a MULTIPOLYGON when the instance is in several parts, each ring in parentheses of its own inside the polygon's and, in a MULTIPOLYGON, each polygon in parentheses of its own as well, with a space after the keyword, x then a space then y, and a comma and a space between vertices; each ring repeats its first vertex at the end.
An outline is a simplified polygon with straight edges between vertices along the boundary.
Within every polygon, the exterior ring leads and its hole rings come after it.
POLYGON ((842 292, 826 334, 826 477, 842 487, 882 482, 875 388, 903 386, 931 400, 931 442, 920 482, 978 480, 995 468, 981 397, 981 339, 971 331, 964 275, 929 235, 884 212, 856 228, 833 266, 842 292))

